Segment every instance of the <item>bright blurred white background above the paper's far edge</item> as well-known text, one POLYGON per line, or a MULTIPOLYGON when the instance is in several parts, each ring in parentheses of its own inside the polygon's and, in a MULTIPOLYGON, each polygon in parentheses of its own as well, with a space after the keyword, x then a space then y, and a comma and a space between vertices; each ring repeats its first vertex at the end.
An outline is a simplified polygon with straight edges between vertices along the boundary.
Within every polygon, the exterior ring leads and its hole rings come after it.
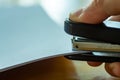
POLYGON ((91 0, 0 0, 0 7, 41 6, 58 24, 63 25, 69 13, 85 7, 91 0))

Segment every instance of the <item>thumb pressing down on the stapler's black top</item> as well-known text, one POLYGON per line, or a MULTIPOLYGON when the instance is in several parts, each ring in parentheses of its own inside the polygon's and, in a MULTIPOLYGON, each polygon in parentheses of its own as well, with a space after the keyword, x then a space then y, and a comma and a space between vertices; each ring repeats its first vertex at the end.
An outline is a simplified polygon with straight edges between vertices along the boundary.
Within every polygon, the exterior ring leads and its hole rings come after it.
POLYGON ((93 1, 85 9, 78 10, 70 14, 70 19, 76 22, 84 22, 90 24, 97 24, 103 22, 110 15, 108 15, 101 6, 101 2, 93 1))

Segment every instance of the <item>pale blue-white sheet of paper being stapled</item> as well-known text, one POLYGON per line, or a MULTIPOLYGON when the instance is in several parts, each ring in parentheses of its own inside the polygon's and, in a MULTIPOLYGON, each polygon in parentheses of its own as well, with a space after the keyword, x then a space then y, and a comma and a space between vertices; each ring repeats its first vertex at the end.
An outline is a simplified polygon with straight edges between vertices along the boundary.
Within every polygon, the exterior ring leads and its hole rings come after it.
POLYGON ((64 27, 41 7, 0 8, 0 72, 69 52, 64 27))

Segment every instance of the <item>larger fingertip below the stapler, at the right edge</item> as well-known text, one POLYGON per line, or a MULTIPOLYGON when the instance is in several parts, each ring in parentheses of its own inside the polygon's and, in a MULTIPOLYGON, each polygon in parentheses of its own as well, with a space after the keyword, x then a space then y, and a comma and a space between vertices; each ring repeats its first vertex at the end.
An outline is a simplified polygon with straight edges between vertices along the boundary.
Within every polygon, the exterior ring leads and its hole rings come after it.
POLYGON ((105 69, 110 75, 120 77, 120 62, 106 63, 105 69))

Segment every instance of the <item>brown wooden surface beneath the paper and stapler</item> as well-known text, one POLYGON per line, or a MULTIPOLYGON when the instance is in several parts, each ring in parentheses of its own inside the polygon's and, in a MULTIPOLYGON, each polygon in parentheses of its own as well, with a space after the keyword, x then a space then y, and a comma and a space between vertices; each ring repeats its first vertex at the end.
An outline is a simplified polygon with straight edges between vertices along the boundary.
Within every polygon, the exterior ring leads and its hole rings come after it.
POLYGON ((82 61, 57 57, 34 62, 0 73, 0 80, 120 80, 111 77, 104 66, 93 68, 82 61))

